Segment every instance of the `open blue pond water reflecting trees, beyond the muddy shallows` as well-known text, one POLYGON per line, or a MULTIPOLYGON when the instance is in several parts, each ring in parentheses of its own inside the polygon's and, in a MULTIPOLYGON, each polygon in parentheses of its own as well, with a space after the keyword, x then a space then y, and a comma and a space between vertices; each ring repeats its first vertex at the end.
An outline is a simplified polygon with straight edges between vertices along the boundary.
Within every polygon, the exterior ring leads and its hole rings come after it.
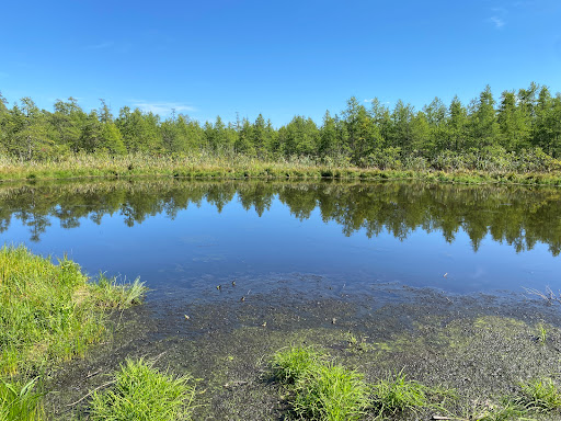
MULTIPOLYGON (((0 242, 140 276, 151 299, 242 280, 301 294, 561 288, 561 191, 423 183, 0 185, 0 242)), ((207 294, 210 296, 209 294, 207 294)), ((208 296, 206 298, 208 298, 208 296)), ((205 298, 205 297, 202 297, 205 298)))

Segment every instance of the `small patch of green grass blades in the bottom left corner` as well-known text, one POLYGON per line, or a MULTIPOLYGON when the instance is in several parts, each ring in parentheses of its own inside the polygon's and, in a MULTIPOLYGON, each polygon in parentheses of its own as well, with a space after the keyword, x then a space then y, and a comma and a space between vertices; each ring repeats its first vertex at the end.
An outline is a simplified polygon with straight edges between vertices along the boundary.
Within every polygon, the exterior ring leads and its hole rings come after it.
POLYGON ((39 421, 45 419, 38 377, 26 383, 0 379, 0 421, 39 421))

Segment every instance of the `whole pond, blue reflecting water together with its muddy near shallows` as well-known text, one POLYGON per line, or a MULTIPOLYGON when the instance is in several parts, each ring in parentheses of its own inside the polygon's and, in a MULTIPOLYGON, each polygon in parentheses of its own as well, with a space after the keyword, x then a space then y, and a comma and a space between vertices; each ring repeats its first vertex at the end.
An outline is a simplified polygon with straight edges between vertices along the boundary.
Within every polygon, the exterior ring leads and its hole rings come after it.
POLYGON ((561 191, 516 185, 4 183, 0 239, 151 288, 113 341, 56 372, 53 413, 70 418, 65 405, 106 380, 91 373, 136 355, 201 379, 196 419, 282 419, 262 373, 289 344, 366 378, 407 367, 465 402, 554 372, 559 310, 525 288, 561 288, 560 209, 561 191))

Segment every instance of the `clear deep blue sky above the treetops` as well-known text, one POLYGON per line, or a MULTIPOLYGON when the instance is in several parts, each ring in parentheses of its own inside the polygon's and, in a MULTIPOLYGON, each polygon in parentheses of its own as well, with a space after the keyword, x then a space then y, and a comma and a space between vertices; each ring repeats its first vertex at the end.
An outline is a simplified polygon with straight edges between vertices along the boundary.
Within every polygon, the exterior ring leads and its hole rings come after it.
POLYGON ((416 110, 491 86, 561 91, 561 0, 7 1, 0 92, 168 117, 321 123, 356 96, 416 110))

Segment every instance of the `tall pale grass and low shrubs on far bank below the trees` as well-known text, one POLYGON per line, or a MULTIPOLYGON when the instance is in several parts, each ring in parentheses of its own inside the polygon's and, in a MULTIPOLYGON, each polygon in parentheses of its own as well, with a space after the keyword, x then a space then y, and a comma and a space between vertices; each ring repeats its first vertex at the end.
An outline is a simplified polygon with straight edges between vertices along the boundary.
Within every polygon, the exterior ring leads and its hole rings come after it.
POLYGON ((188 155, 77 153, 42 161, 21 161, 0 155, 0 181, 70 178, 182 177, 206 179, 360 179, 386 180, 416 178, 461 183, 519 183, 561 185, 561 161, 540 150, 506 153, 443 152, 432 159, 393 157, 381 150, 359 166, 345 159, 294 156, 260 159, 236 153, 205 150, 188 155))

